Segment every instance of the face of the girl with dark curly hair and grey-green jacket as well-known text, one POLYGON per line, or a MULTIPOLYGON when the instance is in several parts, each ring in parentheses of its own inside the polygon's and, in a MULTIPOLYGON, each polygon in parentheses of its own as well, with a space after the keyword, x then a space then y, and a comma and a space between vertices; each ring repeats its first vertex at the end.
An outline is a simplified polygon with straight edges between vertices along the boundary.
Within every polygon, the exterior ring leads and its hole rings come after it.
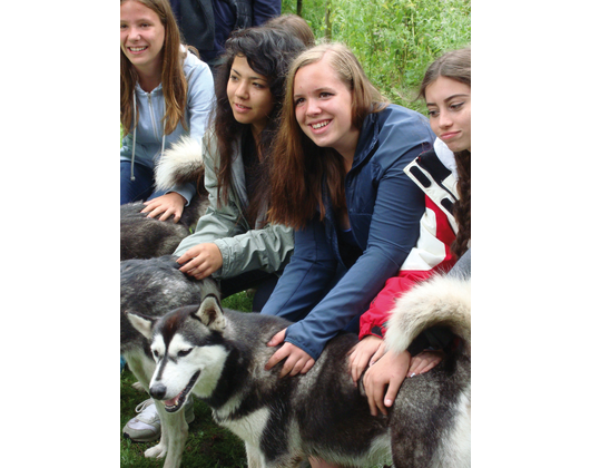
POLYGON ((252 125, 254 135, 259 135, 268 124, 274 98, 266 77, 254 71, 244 56, 234 59, 227 97, 234 118, 240 124, 252 125))

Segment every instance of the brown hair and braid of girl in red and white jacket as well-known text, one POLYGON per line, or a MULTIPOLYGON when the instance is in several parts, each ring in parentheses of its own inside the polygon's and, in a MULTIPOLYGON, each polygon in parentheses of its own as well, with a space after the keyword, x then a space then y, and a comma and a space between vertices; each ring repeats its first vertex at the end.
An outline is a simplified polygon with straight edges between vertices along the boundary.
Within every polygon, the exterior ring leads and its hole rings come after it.
MULTIPOLYGON (((471 88, 471 48, 445 53, 426 71, 420 96, 426 99, 426 88, 440 77, 454 79, 471 88)), ((453 253, 460 259, 465 254, 471 241, 471 153, 455 153, 459 169, 459 195, 454 215, 459 224, 459 233, 452 245, 453 253)))

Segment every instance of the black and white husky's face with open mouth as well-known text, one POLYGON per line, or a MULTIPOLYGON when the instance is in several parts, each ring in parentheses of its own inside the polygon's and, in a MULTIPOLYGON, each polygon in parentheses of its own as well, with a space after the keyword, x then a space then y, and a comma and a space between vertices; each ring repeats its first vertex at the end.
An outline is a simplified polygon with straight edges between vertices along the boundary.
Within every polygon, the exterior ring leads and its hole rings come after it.
POLYGON ((179 411, 190 392, 208 398, 217 387, 229 351, 220 333, 226 320, 215 296, 199 308, 181 308, 159 320, 128 313, 131 324, 151 340, 156 371, 149 392, 168 412, 179 411))

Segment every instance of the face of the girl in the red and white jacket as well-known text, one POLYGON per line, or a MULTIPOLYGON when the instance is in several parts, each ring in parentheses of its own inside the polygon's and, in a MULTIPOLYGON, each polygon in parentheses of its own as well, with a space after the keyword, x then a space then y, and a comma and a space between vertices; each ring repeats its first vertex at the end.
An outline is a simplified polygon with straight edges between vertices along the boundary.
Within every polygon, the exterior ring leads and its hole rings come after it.
POLYGON ((440 77, 426 88, 432 130, 453 153, 471 153, 471 87, 440 77))

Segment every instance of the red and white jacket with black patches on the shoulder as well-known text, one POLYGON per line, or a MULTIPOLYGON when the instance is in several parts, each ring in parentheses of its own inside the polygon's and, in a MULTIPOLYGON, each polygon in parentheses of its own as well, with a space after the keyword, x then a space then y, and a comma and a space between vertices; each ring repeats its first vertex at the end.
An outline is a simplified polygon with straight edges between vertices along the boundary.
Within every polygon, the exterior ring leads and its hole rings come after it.
POLYGON ((435 149, 421 155, 405 168, 407 176, 424 191, 426 197, 420 238, 397 276, 385 283, 368 311, 361 316, 361 340, 370 334, 384 338, 384 325, 391 319, 397 299, 433 274, 449 272, 456 263, 451 253, 458 232, 453 215, 454 204, 459 201, 454 167, 453 153, 437 140, 435 149))

